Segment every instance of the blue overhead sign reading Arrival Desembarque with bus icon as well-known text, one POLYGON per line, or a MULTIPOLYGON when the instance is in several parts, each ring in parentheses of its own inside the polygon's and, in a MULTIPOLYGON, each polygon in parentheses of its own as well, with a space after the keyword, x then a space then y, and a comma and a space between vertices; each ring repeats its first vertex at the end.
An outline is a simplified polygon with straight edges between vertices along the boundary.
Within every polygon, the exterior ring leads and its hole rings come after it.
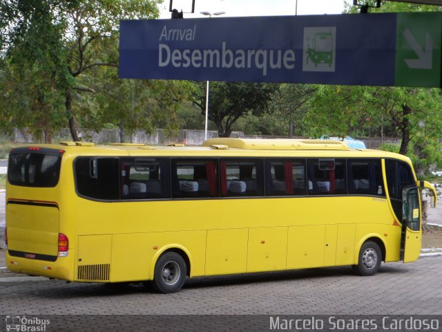
MULTIPOLYGON (((430 51, 434 53, 431 68, 418 66, 412 69, 437 73, 433 81, 437 81, 436 86, 439 86, 441 13, 430 14, 424 20, 430 18, 433 26, 439 26, 439 35, 428 32, 434 39, 430 51), (436 63, 438 59, 439 63, 436 63)), ((401 31, 396 31, 397 27, 401 26, 405 33, 404 45, 400 47, 410 48, 407 40, 414 33, 414 24, 404 26, 402 20, 402 25, 398 25, 398 15, 121 21, 119 76, 413 86, 412 82, 407 82, 407 75, 405 80, 396 80, 396 62, 402 62, 396 52, 396 45, 401 39, 398 37, 401 31)), ((414 39, 411 48, 419 46, 419 43, 414 39)), ((427 51, 428 45, 425 39, 416 52, 416 58, 427 51)), ((411 61, 403 59, 404 66, 410 63, 416 67, 413 54, 403 54, 412 58, 411 61)), ((419 86, 434 86, 434 82, 419 80, 419 86)))

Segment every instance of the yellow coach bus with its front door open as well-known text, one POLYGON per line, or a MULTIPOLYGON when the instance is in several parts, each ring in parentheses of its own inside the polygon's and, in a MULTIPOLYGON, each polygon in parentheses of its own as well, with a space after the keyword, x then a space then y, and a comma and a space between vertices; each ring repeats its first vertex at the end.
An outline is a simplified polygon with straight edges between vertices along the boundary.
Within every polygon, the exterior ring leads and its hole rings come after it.
POLYGON ((409 158, 327 140, 17 147, 7 264, 162 293, 197 276, 345 265, 373 275, 419 257, 420 187, 435 196, 409 158))

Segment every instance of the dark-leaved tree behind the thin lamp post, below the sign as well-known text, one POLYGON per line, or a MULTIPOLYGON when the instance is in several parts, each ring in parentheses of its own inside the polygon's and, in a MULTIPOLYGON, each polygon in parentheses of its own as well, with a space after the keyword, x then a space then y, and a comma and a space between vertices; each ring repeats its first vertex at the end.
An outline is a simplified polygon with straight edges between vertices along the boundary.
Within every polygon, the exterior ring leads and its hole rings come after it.
MULTIPOLYGON (((192 102, 206 113, 204 83, 193 93, 192 102)), ((268 111, 275 84, 211 82, 209 90, 209 120, 218 128, 220 137, 229 137, 233 124, 247 113, 261 115, 268 111)))

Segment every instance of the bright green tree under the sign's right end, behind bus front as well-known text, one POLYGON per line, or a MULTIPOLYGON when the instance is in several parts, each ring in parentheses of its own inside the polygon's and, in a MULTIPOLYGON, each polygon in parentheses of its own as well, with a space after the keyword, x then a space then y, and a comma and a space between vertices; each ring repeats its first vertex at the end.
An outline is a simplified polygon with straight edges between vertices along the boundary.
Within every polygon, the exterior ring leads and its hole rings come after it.
POLYGON ((439 89, 411 89, 380 86, 322 86, 307 113, 311 134, 334 136, 380 136, 383 128, 401 138, 399 153, 407 154, 410 143, 427 119, 427 139, 441 136, 439 89), (377 131, 375 131, 377 129, 377 131), (437 132, 439 129, 439 133, 437 132))

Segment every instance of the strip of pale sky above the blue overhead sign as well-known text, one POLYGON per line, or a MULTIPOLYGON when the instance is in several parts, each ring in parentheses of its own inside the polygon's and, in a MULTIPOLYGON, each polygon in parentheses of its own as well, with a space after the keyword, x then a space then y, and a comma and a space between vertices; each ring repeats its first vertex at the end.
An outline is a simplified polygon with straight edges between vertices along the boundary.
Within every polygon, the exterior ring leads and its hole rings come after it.
MULTIPOLYGON (((225 12, 222 16, 271 16, 341 14, 344 0, 195 0, 195 14, 184 14, 184 18, 204 17, 200 12, 225 12)), ((353 3, 351 0, 347 2, 353 3)), ((161 19, 170 19, 170 0, 164 0, 161 19)), ((173 0, 173 8, 189 12, 192 0, 173 0)))

